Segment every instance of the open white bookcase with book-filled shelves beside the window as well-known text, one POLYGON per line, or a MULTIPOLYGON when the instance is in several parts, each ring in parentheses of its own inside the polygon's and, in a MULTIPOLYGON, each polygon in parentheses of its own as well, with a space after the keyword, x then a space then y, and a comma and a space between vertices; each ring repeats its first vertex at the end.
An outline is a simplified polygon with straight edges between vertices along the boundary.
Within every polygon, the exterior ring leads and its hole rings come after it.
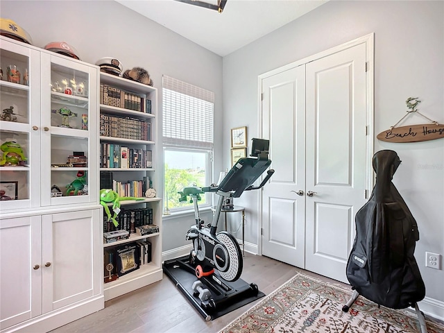
MULTIPOLYGON (((153 189, 157 189, 157 175, 155 173, 155 166, 157 165, 157 147, 156 147, 156 138, 157 138, 157 89, 148 85, 144 85, 142 83, 137 83, 133 80, 127 80, 125 78, 121 78, 119 76, 114 76, 111 74, 103 73, 100 74, 100 83, 101 87, 101 103, 100 103, 100 147, 101 147, 101 161, 100 162, 100 171, 103 172, 112 172, 112 178, 118 182, 126 183, 128 181, 146 181, 146 188, 150 187, 153 189), (108 94, 103 92, 103 85, 120 89, 121 101, 117 98, 117 102, 110 102, 108 105, 108 94), (143 101, 143 110, 128 110, 129 106, 123 102, 124 94, 128 93, 132 96, 136 96, 138 103, 143 101), (104 96, 105 95, 105 96, 104 96), (143 100, 142 100, 143 99, 143 100), (147 111, 147 103, 146 101, 151 101, 151 113, 147 111), (127 106, 127 108, 125 108, 127 106), (107 116, 108 118, 104 118, 107 116), (114 119, 112 119, 114 117, 114 119), (117 119, 117 120, 116 120, 117 119), (144 121, 148 124, 150 130, 149 134, 144 130, 142 133, 143 137, 133 137, 132 139, 124 138, 123 136, 128 135, 128 129, 122 130, 122 127, 126 127, 126 119, 137 119, 139 121, 144 121), (107 127, 108 126, 108 127, 107 127), (117 127, 116 127, 117 126, 117 127), (105 128, 107 127, 107 128, 105 128), (113 128, 111 128, 113 127, 113 128), (113 132, 112 132, 113 131, 113 132), (111 136, 112 135, 112 136, 111 136), (108 144, 108 147, 112 144, 113 151, 116 151, 117 160, 113 160, 110 164, 107 162, 108 157, 111 157, 111 154, 108 154, 108 150, 103 150, 103 144, 108 144), (117 149, 115 146, 117 145, 117 149), (151 165, 141 165, 137 163, 131 163, 129 161, 128 165, 124 167, 121 161, 121 148, 128 148, 128 160, 130 160, 129 149, 133 148, 133 150, 144 150, 151 151, 151 165), (103 157, 106 158, 103 158, 103 157), (149 181, 148 181, 149 180, 149 181)), ((107 88, 105 88, 107 89, 107 88)), ((119 96, 119 91, 114 91, 113 96, 119 96)), ((111 97, 109 97, 111 98, 111 97)), ((136 101, 136 104, 137 104, 136 101)), ((141 109, 141 108, 139 108, 141 109)), ((114 155, 114 154, 113 154, 114 155)), ((144 160, 142 160, 144 162, 144 160)), ((102 186, 103 187, 103 186, 102 186)), ((109 188, 105 187, 105 188, 109 188)), ((126 195, 121 194, 121 196, 139 196, 141 194, 133 194, 127 193, 126 195)), ((153 197, 146 198, 145 193, 142 193, 143 200, 123 200, 121 201, 121 206, 123 210, 130 208, 140 208, 140 207, 150 207, 153 210, 153 224, 159 227, 159 232, 155 234, 149 234, 148 236, 138 236, 137 234, 130 234, 129 239, 117 241, 114 243, 106 244, 103 241, 103 247, 107 249, 112 249, 115 246, 119 246, 122 244, 128 244, 133 241, 137 241, 140 239, 148 239, 151 242, 151 262, 148 264, 142 264, 133 272, 130 272, 126 275, 120 276, 117 280, 113 280, 111 282, 104 283, 104 296, 105 300, 110 300, 114 297, 121 296, 124 293, 128 293, 135 289, 144 287, 153 282, 162 280, 162 199, 153 197)), ((104 212, 104 216, 106 216, 104 212)), ((104 221, 105 223, 105 221, 104 221)), ((119 228, 119 227, 118 227, 119 228)), ((117 259, 117 258, 116 258, 117 259)), ((107 264, 104 262, 104 264, 107 264)), ((115 262, 114 262, 115 264, 115 262)), ((104 273, 105 270, 103 269, 104 273)))

